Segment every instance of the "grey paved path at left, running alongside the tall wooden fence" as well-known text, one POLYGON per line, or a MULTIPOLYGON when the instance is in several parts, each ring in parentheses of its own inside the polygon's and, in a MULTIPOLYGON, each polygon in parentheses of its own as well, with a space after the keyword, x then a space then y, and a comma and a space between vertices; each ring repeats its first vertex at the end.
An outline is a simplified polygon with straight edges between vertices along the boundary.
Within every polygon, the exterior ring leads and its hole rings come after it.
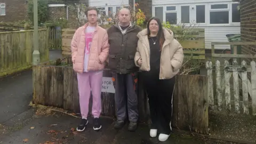
MULTIPOLYGON (((50 51, 50 59, 60 58, 61 51, 50 51)), ((0 78, 0 124, 28 110, 32 100, 32 70, 0 78)))

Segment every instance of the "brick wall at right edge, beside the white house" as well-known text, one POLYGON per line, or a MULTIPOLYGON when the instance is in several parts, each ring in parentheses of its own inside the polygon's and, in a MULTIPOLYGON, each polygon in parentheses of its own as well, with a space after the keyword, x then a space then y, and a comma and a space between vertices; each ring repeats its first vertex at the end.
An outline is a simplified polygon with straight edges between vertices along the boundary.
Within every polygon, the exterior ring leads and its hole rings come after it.
MULTIPOLYGON (((241 39, 256 42, 256 0, 243 0, 241 4, 241 39)), ((243 54, 256 54, 256 46, 243 46, 243 54)))

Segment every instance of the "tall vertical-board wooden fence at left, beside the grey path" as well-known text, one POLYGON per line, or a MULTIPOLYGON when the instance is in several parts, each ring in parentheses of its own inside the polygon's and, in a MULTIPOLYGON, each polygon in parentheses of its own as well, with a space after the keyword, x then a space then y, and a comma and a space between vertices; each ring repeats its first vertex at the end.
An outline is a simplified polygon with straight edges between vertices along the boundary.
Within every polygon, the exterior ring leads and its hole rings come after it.
MULTIPOLYGON (((27 69, 32 65, 34 30, 0 33, 0 76, 27 69)), ((49 60, 47 31, 38 30, 41 61, 49 60)))

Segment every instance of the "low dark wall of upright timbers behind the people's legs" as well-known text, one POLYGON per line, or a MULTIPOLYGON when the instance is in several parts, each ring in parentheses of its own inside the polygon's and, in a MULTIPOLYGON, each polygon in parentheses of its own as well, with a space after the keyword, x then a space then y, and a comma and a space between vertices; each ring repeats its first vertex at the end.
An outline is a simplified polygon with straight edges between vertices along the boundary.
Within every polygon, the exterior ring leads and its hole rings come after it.
MULTIPOLYGON (((61 61, 61 60, 57 60, 61 61)), ((54 62, 54 63, 57 63, 54 62)), ((72 63, 68 60, 68 63, 72 63)), ((60 107, 79 113, 79 94, 77 75, 71 64, 59 63, 58 66, 50 62, 33 66, 33 102, 36 104, 60 107)), ((139 121, 149 122, 148 99, 138 78, 138 107, 139 121)), ((102 86, 101 104, 102 115, 115 117, 115 82, 113 74, 105 69, 102 83, 108 82, 108 89, 102 86), (104 82, 103 82, 104 81, 104 82), (110 89, 111 87, 111 89, 110 89), (113 92, 114 89, 114 92, 113 92)), ((181 130, 191 130, 199 133, 209 133, 207 77, 200 75, 178 75, 173 96, 174 127, 181 130)), ((90 108, 92 101, 90 100, 90 108)))

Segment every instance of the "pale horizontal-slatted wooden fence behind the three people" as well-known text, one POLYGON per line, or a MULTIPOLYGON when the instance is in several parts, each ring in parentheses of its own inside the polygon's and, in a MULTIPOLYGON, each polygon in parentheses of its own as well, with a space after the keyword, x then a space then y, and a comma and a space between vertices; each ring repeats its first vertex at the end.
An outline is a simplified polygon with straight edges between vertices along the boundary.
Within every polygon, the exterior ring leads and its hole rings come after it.
MULTIPOLYGON (((75 34, 76 29, 62 29, 62 55, 66 57, 71 54, 70 43, 75 34)), ((191 59, 205 59, 205 41, 204 29, 175 29, 175 38, 182 39, 180 41, 183 46, 183 53, 191 59)))

